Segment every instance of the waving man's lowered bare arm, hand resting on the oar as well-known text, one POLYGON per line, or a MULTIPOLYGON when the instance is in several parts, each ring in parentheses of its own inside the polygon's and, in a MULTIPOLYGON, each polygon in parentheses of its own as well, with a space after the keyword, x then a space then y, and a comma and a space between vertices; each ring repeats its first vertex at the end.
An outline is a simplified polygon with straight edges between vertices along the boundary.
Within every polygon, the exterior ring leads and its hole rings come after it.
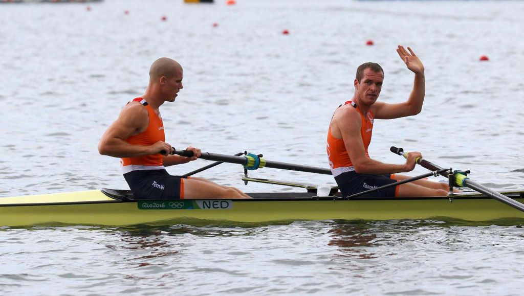
POLYGON ((345 108, 340 110, 340 113, 336 114, 333 120, 331 126, 331 130, 335 131, 333 136, 342 136, 344 146, 357 173, 391 174, 409 172, 415 167, 413 156, 408 156, 405 165, 392 165, 367 157, 361 136, 361 117, 355 109, 345 108))

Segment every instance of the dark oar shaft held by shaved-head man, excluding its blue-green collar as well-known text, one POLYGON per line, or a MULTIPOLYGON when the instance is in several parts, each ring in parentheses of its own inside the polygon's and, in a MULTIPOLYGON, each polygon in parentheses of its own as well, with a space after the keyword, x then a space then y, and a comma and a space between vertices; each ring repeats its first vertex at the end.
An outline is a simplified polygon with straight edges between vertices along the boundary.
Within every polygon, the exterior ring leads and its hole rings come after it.
MULTIPOLYGON (((185 156, 185 157, 193 156, 193 152, 187 151, 187 150, 174 150, 173 154, 185 156)), ((245 166, 247 163, 247 159, 244 156, 223 155, 223 154, 215 154, 215 153, 210 153, 210 152, 202 152, 202 155, 199 158, 205 159, 205 160, 212 160, 212 161, 237 163, 238 165, 243 165, 243 166, 245 166)), ((303 166, 303 165, 294 165, 292 163, 270 161, 270 160, 266 160, 265 167, 274 168, 274 169, 300 171, 300 172, 331 174, 331 170, 329 169, 316 168, 316 167, 303 166)))

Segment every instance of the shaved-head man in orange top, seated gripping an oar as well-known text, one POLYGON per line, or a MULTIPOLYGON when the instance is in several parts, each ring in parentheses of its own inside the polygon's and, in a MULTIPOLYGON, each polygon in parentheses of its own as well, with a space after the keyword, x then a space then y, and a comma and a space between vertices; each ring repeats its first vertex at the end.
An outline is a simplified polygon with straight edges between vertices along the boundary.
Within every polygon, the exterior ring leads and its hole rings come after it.
POLYGON ((149 85, 143 96, 124 106, 99 143, 102 155, 122 158, 124 178, 137 199, 242 199, 242 191, 202 178, 171 176, 167 166, 180 165, 201 156, 188 147, 192 157, 170 155, 159 107, 174 102, 182 86, 182 67, 169 58, 160 58, 149 69, 149 85), (161 152, 166 155, 162 155, 161 152))

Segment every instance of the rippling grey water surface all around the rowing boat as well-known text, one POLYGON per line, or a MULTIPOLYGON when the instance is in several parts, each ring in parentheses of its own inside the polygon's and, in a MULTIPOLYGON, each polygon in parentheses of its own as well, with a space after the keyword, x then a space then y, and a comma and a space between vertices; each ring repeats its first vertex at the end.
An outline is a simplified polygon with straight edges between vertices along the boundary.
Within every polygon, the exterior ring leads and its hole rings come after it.
MULTIPOLYGON (((177 102, 161 109, 174 147, 327 167, 328 123, 351 98, 359 64, 383 65, 380 100, 409 95, 413 75, 398 44, 424 62, 424 108, 377 120, 370 155, 400 163, 391 145, 419 150, 489 187, 522 188, 522 14, 517 1, 0 5, 0 197, 127 188, 118 160, 96 146, 163 56, 184 68, 177 102), (484 54, 490 61, 479 62, 484 54)), ((252 175, 334 183, 271 169, 252 175)), ((248 192, 289 190, 245 187, 237 165, 200 176, 248 192)), ((0 292, 520 294, 523 238, 520 225, 439 221, 4 228, 0 292)))

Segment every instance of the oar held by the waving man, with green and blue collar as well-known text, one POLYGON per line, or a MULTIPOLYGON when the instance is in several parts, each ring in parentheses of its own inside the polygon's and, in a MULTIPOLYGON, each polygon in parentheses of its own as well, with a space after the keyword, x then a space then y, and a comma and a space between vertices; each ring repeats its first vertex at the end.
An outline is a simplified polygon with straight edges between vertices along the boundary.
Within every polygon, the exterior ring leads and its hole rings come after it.
MULTIPOLYGON (((405 158, 408 157, 408 152, 404 152, 404 149, 402 148, 397 148, 397 147, 394 147, 394 146, 391 146, 391 148, 389 149, 391 152, 393 152, 394 154, 398 154, 398 155, 401 155, 405 158)), ((441 170, 442 168, 435 165, 434 163, 431 163, 425 159, 422 159, 422 158, 417 158, 416 162, 428 169, 428 170, 431 170, 431 171, 436 171, 436 170, 441 170)), ((489 189, 487 187, 485 187, 484 185, 481 185, 481 184, 478 184, 476 182, 473 182, 470 180, 469 177, 466 176, 466 173, 465 172, 460 172, 460 171, 455 171, 455 172, 451 172, 453 173, 452 177, 454 177, 454 182, 455 182, 455 185, 457 185, 458 187, 468 187, 468 188, 471 188, 475 191, 478 191, 482 194, 486 194, 487 196, 489 196, 490 198, 492 199, 496 199, 500 202, 503 202, 511 207, 514 207, 515 209, 517 210, 520 210, 522 212, 524 212, 524 204, 518 202, 518 201, 515 201, 515 200, 512 200, 510 198, 508 198, 508 196, 505 196, 503 194, 500 194, 492 189, 489 189)), ((450 176, 450 172, 441 172, 440 173, 442 176, 446 177, 446 178, 449 178, 450 176)))

